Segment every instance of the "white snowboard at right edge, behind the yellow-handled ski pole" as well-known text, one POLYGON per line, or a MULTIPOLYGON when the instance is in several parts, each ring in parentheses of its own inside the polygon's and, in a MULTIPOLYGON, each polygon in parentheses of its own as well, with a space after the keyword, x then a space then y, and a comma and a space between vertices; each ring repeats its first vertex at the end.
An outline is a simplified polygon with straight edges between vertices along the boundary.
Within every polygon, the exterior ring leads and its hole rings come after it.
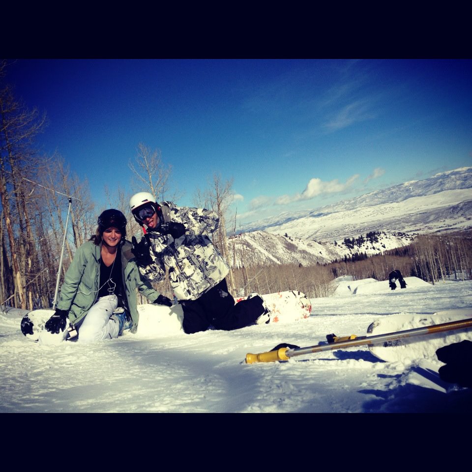
MULTIPOLYGON (((375 320, 367 328, 368 335, 377 335, 407 329, 472 318, 470 309, 459 308, 439 311, 431 315, 402 314, 385 316, 375 320)), ((387 362, 411 363, 419 359, 437 360, 436 350, 449 344, 468 339, 472 341, 472 329, 445 331, 425 336, 387 341, 369 346, 369 351, 387 362)))

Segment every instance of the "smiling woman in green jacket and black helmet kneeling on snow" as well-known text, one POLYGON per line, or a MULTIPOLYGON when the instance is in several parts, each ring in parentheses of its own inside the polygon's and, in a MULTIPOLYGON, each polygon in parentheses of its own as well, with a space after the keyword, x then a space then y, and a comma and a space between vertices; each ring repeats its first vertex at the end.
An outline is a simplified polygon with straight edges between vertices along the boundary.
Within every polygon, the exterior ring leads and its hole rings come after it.
POLYGON ((47 331, 58 334, 69 321, 69 333, 73 337, 77 330, 79 342, 117 338, 124 329, 135 333, 139 322, 135 289, 157 304, 172 304, 141 277, 132 245, 125 240, 123 213, 105 210, 97 223, 95 235, 77 249, 56 313, 45 324, 47 331))

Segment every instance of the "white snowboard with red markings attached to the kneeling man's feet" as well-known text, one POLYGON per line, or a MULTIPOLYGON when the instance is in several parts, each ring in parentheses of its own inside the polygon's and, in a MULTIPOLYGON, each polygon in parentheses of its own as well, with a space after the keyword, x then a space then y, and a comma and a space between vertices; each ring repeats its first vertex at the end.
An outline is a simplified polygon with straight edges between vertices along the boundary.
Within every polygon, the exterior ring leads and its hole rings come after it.
MULTIPOLYGON (((302 292, 295 290, 261 295, 270 310, 269 323, 292 323, 304 320, 311 314, 311 301, 302 292)), ((247 296, 235 298, 236 303, 247 296)))

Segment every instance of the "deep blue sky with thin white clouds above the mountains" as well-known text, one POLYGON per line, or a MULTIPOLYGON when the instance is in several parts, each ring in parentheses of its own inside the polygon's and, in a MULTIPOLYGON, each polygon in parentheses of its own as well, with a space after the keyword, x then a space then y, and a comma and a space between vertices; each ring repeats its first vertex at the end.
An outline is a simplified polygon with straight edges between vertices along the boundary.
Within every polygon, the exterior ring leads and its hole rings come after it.
POLYGON ((177 205, 234 178, 240 223, 472 165, 471 60, 21 59, 7 81, 98 208, 139 143, 177 205))

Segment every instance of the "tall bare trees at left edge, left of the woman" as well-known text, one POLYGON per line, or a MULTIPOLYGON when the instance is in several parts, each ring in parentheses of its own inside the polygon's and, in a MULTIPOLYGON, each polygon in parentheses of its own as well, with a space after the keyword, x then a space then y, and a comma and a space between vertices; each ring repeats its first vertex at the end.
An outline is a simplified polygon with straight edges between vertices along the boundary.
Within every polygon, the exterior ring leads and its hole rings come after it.
MULTIPOLYGON (((2 61, 0 80, 6 67, 2 61)), ((59 155, 46 157, 35 151, 34 137, 43 131, 46 116, 29 110, 8 85, 0 89, 0 119, 0 303, 25 309, 50 306, 67 197, 82 195, 74 197, 70 214, 75 247, 89 234, 93 204, 87 182, 72 175, 59 155)), ((63 270, 73 254, 67 243, 63 270)))

